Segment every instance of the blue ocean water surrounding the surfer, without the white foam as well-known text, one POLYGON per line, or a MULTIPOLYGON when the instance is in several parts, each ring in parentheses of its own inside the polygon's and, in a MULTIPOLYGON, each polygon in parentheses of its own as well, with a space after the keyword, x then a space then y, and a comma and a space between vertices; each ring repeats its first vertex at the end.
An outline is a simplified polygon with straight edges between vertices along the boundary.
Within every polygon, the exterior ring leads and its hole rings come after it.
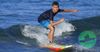
MULTIPOLYGON (((25 36, 22 29, 28 25, 35 33, 39 32, 34 29, 39 25, 37 18, 42 12, 51 9, 53 1, 0 0, 0 52, 50 52, 49 49, 39 48, 37 40, 25 36)), ((79 10, 79 12, 59 13, 55 16, 55 21, 64 17, 65 21, 75 27, 75 31, 71 33, 63 31, 64 36, 59 37, 57 43, 75 45, 74 52, 100 52, 100 0, 56 1, 60 3, 61 9, 79 10), (83 31, 95 33, 96 43, 92 48, 87 49, 80 45, 78 38, 83 31)))

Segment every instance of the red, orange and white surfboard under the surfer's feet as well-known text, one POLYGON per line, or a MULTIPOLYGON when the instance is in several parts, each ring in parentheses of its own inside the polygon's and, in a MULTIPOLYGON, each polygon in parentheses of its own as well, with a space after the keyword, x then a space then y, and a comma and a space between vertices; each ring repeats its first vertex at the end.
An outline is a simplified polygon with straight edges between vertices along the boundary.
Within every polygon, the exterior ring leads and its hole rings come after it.
POLYGON ((62 52, 63 50, 69 49, 72 47, 73 45, 57 45, 57 44, 44 46, 44 48, 48 48, 53 52, 62 52))

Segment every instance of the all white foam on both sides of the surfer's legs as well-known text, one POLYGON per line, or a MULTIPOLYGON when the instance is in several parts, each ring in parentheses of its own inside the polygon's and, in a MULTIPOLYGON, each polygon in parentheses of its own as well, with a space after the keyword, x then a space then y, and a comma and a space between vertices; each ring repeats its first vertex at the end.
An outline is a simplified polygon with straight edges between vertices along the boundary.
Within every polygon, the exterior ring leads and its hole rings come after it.
MULTIPOLYGON (((54 36, 61 36, 62 32, 71 32, 75 31, 74 26, 71 23, 63 22, 55 27, 54 36)), ((49 29, 43 28, 42 26, 31 26, 25 25, 22 29, 22 34, 25 37, 29 37, 31 39, 35 38, 40 45, 48 44, 48 34, 49 29)))

